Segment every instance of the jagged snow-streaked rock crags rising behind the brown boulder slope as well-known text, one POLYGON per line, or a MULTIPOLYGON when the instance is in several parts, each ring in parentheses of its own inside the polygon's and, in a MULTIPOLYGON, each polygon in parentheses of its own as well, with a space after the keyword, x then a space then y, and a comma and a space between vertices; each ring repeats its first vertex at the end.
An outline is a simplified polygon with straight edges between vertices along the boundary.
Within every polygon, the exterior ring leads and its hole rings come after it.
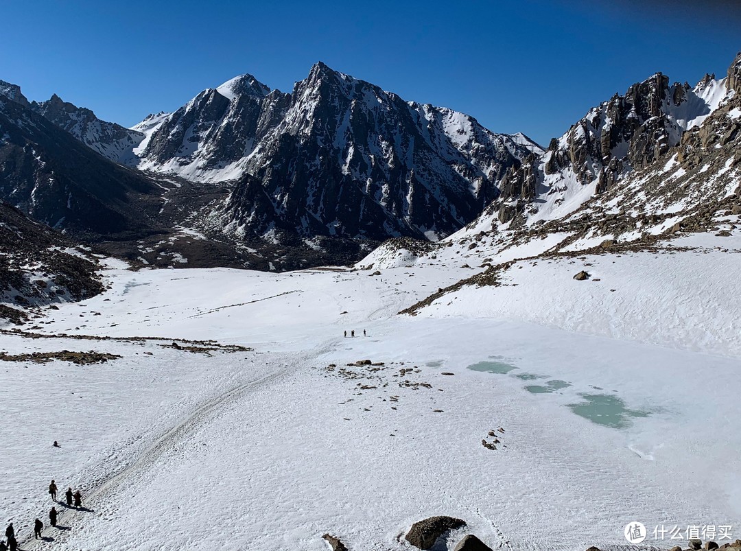
POLYGON ((662 73, 634 84, 589 110, 544 155, 513 167, 489 213, 504 227, 565 216, 664 156, 727 96, 727 79, 711 75, 695 87, 662 73))

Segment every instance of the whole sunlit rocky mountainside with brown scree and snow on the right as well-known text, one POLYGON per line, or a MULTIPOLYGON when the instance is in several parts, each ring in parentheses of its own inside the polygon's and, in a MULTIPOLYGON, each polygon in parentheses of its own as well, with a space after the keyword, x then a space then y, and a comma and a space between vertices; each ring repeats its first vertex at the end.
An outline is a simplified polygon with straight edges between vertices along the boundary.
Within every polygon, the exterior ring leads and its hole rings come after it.
POLYGON ((502 195, 464 229, 437 245, 390 242, 359 266, 454 261, 498 273, 517 258, 728 236, 739 215, 741 54, 724 79, 670 87, 657 74, 631 87, 509 170, 502 195))

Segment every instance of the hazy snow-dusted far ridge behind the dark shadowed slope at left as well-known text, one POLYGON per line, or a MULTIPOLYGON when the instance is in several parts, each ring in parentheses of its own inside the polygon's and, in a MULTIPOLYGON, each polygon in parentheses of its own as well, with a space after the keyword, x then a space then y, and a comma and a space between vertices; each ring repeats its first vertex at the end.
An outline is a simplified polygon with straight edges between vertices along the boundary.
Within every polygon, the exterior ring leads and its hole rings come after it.
POLYGON ((144 138, 136 130, 102 121, 91 110, 62 101, 56 94, 48 101, 33 101, 29 107, 111 161, 127 161, 133 156, 133 147, 144 138))

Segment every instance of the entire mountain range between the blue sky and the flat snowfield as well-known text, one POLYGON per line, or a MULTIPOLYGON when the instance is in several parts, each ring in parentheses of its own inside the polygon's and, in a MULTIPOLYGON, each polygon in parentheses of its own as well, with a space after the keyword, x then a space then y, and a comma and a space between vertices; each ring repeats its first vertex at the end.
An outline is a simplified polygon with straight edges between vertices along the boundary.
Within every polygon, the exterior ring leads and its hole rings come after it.
POLYGON ((693 173, 693 189, 721 193, 741 139, 740 81, 741 56, 694 87, 657 73, 545 150, 322 63, 290 93, 237 76, 132 129, 0 81, 0 198, 142 264, 347 264, 388 238, 560 220, 641 174, 654 182, 645 196, 676 194, 656 176, 670 162, 685 170, 675 180, 693 173), (730 167, 716 167, 728 151, 730 167))

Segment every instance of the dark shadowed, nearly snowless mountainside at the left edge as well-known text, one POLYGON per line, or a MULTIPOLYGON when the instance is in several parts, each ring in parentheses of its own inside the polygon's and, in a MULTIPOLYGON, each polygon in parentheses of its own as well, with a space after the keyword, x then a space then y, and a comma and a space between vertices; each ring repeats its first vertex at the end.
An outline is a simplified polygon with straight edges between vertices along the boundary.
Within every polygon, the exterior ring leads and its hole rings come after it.
POLYGON ((146 232, 159 203, 150 178, 99 156, 30 107, 0 98, 0 199, 95 238, 146 232))

